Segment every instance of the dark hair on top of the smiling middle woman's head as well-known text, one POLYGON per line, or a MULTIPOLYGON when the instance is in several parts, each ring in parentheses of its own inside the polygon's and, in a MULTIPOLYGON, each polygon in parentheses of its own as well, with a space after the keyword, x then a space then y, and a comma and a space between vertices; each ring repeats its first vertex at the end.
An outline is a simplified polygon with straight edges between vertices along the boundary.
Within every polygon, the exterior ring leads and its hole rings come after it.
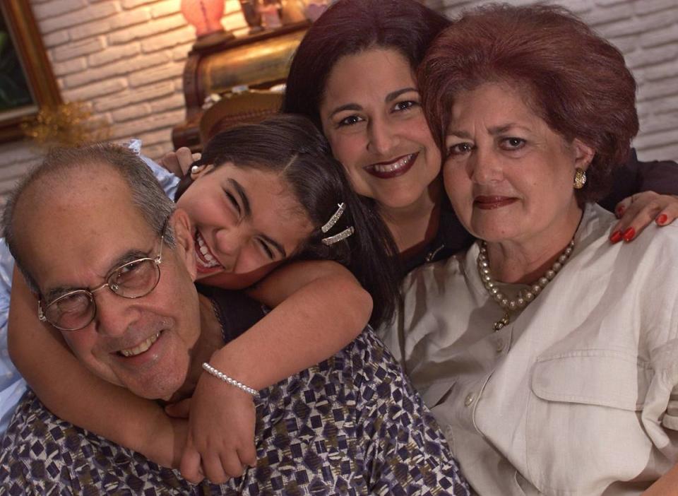
POLYGON ((303 114, 322 129, 319 107, 334 64, 372 47, 393 48, 415 70, 450 21, 415 0, 339 0, 304 35, 297 48, 283 112, 303 114))

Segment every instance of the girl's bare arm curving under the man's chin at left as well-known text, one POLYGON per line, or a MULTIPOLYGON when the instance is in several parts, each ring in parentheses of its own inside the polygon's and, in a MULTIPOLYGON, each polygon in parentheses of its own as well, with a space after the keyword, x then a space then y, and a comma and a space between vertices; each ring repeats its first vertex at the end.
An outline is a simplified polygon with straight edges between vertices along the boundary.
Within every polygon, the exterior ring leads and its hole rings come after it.
POLYGON ((64 420, 140 452, 162 466, 179 466, 186 422, 154 401, 95 376, 73 356, 59 331, 37 319, 37 300, 14 269, 8 318, 12 361, 44 406, 64 420))

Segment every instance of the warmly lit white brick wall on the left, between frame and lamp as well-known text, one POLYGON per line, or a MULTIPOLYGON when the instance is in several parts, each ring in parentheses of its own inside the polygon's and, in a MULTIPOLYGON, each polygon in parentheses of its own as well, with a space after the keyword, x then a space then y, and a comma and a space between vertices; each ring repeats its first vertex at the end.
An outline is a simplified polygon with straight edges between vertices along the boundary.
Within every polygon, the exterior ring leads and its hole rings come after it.
MULTIPOLYGON (((195 41, 180 0, 29 0, 66 102, 88 102, 111 124, 112 138, 143 140, 160 158, 172 149, 172 126, 184 120, 182 71, 195 41)), ((246 32, 238 0, 227 0, 222 24, 246 32)), ((40 150, 0 145, 0 197, 40 150)))

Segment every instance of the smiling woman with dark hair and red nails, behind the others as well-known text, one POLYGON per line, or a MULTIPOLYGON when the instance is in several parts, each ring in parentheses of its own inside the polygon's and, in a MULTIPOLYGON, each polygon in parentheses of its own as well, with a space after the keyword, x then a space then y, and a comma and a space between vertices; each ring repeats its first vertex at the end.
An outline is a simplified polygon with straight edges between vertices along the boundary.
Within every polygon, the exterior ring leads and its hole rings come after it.
MULTIPOLYGON (((358 194, 374 200, 405 272, 472 241, 444 194, 415 78, 449 23, 415 0, 338 0, 309 28, 287 78, 283 111, 304 114, 323 130, 358 194)), ((631 154, 601 203, 612 209, 641 187, 678 193, 677 176, 674 163, 639 163, 631 154)), ((613 240, 633 240, 653 220, 665 225, 678 215, 672 196, 634 199, 613 240)))

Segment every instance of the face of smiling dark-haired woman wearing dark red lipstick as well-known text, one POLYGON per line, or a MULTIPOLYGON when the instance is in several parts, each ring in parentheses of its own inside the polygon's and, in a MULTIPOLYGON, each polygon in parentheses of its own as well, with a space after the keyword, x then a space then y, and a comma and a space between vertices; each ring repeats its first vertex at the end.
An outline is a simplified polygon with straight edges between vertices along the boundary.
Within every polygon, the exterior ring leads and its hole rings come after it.
POLYGON ((396 49, 346 55, 328 77, 323 132, 355 190, 381 206, 412 206, 440 172, 420 100, 408 59, 396 49))

